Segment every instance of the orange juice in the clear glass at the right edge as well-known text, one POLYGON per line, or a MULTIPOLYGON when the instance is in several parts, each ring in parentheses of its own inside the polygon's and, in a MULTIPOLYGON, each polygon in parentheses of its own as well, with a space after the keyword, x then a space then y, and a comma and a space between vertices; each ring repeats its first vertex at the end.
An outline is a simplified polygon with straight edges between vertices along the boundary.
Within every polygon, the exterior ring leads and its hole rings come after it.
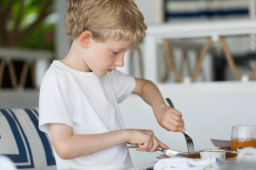
POLYGON ((231 150, 237 151, 238 147, 253 146, 256 147, 256 139, 231 139, 231 150))

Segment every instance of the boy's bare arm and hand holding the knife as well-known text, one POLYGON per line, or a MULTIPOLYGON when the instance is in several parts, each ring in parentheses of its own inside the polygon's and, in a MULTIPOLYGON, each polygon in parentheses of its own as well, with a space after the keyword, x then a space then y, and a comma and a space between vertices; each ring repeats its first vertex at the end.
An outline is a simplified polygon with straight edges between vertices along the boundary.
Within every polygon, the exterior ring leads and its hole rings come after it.
POLYGON ((74 135, 72 127, 50 123, 49 131, 52 144, 61 159, 79 158, 125 142, 138 144, 137 150, 140 151, 154 152, 157 146, 169 149, 154 136, 152 130, 122 129, 107 133, 74 135))

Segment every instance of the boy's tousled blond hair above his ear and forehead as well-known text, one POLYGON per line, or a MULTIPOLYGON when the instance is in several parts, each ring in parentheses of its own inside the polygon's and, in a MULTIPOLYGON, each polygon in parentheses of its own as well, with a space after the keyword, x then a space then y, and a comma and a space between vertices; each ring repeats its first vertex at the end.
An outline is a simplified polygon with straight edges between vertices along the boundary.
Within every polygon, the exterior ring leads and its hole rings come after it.
POLYGON ((91 31, 98 42, 132 40, 139 45, 147 26, 133 0, 69 0, 65 31, 76 40, 83 31, 91 31))

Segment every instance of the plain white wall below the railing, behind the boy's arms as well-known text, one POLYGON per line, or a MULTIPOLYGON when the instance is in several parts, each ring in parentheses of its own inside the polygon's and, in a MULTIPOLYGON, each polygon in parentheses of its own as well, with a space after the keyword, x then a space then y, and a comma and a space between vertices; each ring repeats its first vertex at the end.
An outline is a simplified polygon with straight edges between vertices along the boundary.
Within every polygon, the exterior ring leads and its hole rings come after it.
MULTIPOLYGON (((186 133, 195 150, 216 148, 210 139, 230 140, 233 125, 256 125, 256 82, 159 84, 164 98, 170 98, 183 113, 186 133)), ((186 151, 182 133, 168 132, 157 124, 151 107, 131 95, 120 104, 126 128, 151 129, 171 149, 186 151)), ((130 149, 134 166, 156 161, 162 154, 130 149)))

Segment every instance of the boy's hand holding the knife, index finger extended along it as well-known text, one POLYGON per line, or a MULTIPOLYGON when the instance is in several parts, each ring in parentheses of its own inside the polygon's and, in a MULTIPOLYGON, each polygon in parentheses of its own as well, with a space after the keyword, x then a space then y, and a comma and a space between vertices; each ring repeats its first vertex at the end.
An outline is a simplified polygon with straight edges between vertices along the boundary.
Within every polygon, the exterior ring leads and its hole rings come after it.
POLYGON ((169 149, 166 144, 163 144, 152 130, 140 130, 140 129, 128 129, 129 131, 129 143, 138 144, 136 150, 154 152, 157 146, 163 147, 163 149, 169 149))

